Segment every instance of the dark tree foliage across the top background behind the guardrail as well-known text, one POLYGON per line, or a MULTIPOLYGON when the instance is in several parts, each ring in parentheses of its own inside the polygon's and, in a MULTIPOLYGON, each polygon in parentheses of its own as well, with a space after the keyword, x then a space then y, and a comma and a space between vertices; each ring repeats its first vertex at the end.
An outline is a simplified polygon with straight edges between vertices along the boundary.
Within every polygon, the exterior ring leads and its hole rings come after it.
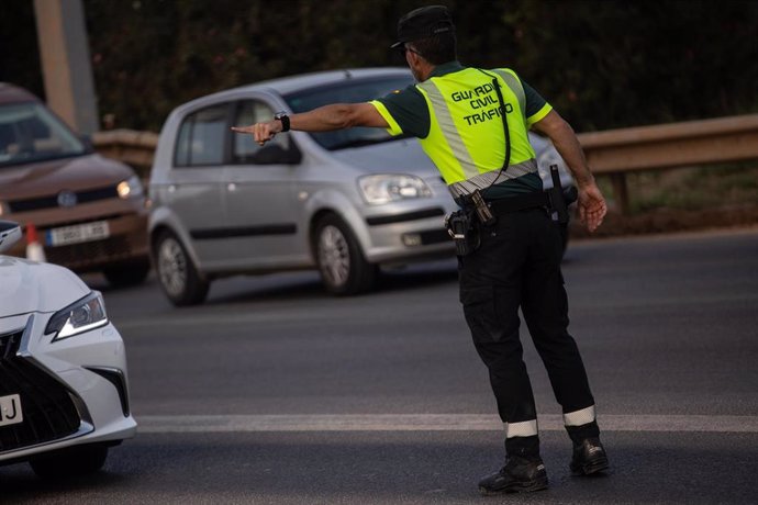
MULTIPOLYGON (((404 65, 397 20, 444 3, 466 65, 514 68, 578 131, 758 112, 753 0, 83 0, 100 114, 158 130, 213 91, 404 65)), ((42 92, 32 2, 4 0, 0 80, 42 92)))

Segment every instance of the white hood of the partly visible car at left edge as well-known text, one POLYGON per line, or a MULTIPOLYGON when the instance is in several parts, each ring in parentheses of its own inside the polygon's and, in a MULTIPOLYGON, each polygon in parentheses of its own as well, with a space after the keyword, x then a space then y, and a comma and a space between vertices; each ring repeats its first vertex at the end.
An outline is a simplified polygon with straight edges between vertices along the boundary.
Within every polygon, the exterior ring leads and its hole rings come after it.
POLYGON ((57 312, 90 291, 68 269, 0 255, 0 317, 57 312))

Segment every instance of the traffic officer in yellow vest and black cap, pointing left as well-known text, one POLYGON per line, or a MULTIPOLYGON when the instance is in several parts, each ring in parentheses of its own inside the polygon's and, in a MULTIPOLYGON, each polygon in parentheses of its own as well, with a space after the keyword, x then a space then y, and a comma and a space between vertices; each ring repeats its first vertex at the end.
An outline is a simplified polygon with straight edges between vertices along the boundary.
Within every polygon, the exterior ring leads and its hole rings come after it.
MULTIPOLYGON (((482 494, 547 487, 537 415, 522 359, 519 307, 573 442, 570 469, 607 468, 582 359, 569 335, 560 272, 561 238, 537 173, 527 130, 547 135, 571 169, 581 221, 593 232, 606 212, 571 126, 513 70, 461 66, 445 7, 416 9, 398 23, 398 42, 417 83, 369 103, 332 104, 236 127, 259 144, 289 130, 350 126, 417 137, 472 224, 459 257, 460 301, 487 366, 505 430, 505 465, 479 482, 482 494), (478 203, 478 204, 477 204, 478 203), (477 212, 479 211, 479 212, 477 212), (483 214, 482 214, 483 212, 483 214)), ((556 203, 556 202, 553 202, 556 203)))

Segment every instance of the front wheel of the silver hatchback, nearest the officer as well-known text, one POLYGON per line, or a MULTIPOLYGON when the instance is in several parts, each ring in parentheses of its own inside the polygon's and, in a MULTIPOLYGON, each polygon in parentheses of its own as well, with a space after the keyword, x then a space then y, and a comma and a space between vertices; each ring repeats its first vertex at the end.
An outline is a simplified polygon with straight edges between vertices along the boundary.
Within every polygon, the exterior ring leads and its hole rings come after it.
POLYGON ((374 288, 379 268, 366 260, 349 226, 337 215, 328 214, 319 221, 314 252, 330 293, 349 295, 374 288))

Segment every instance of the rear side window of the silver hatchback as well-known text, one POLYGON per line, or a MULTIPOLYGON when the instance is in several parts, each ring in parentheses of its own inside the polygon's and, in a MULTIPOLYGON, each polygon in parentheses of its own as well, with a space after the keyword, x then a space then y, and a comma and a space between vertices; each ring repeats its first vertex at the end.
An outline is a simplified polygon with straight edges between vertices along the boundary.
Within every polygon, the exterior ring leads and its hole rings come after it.
POLYGON ((228 104, 194 112, 181 123, 174 164, 177 167, 223 165, 228 104))

